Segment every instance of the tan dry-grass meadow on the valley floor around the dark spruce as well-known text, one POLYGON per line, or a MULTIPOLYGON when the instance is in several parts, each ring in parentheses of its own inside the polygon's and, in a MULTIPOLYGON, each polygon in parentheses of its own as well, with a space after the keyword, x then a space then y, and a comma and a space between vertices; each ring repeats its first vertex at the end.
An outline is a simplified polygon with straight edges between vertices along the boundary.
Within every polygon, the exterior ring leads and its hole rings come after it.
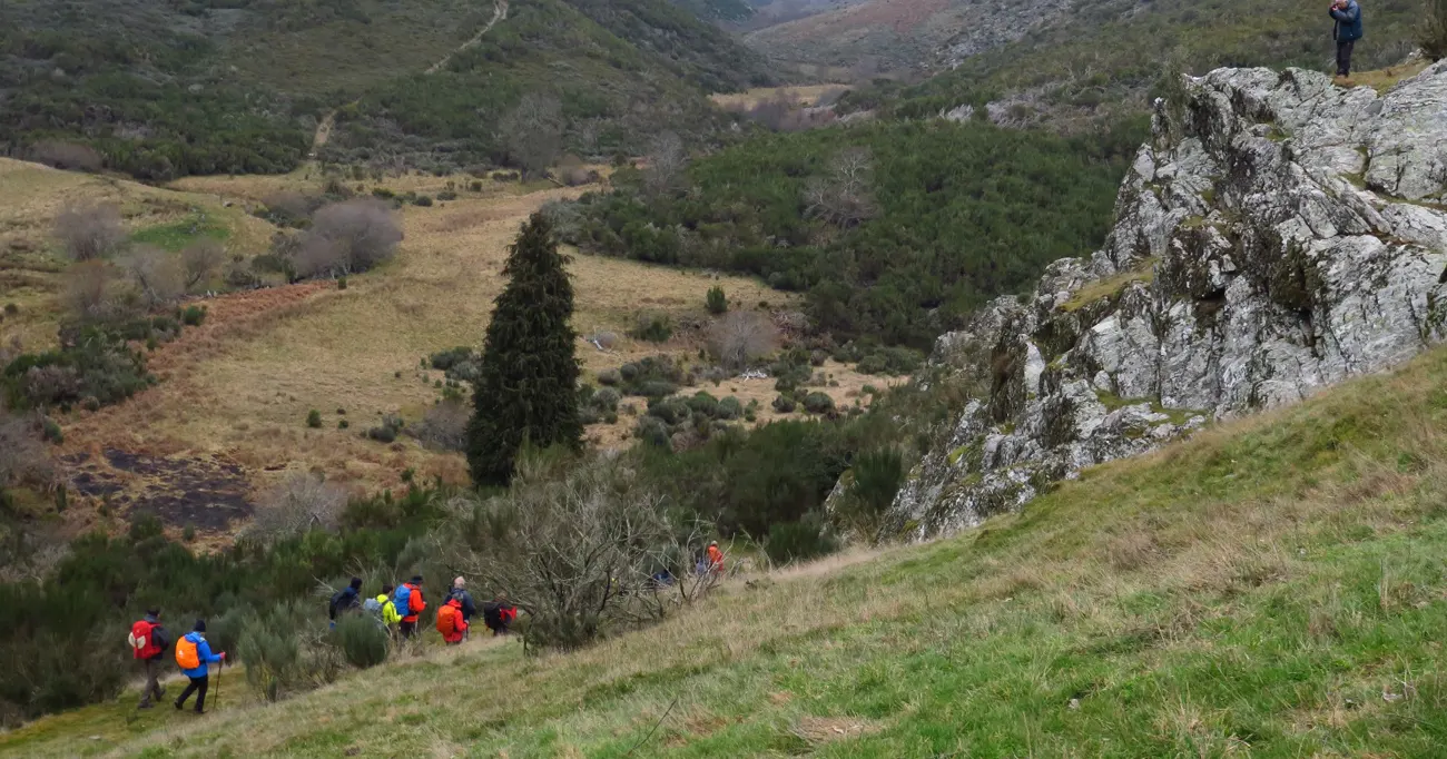
MULTIPOLYGON (((194 178, 185 185, 221 194, 236 185, 237 195, 250 197, 297 186, 297 181, 194 178)), ((480 344, 518 226, 543 202, 576 192, 495 191, 444 208, 408 207, 398 259, 352 278, 346 291, 314 282, 211 299, 203 328, 188 330, 153 354, 164 382, 122 406, 77 415, 67 426, 67 439, 74 441, 67 450, 216 455, 252 470, 258 487, 307 470, 366 490, 396 486, 407 468, 464 481, 459 455, 425 451, 407 438, 382 445, 362 434, 383 413, 417 418, 438 398, 434 385, 443 374, 421 369, 420 360, 443 348, 480 344), (311 409, 323 412, 323 429, 305 426, 311 409), (337 429, 341 419, 349 429, 337 429)), ((577 256, 570 270, 574 321, 585 333, 622 333, 637 309, 702 315, 705 293, 715 285, 744 302, 781 301, 755 280, 619 259, 577 256)), ((690 346, 682 341, 667 348, 690 346)), ((653 353, 658 353, 655 346, 628 340, 614 354, 579 343, 579 357, 593 372, 653 353)), ((621 441, 624 425, 616 426, 619 432, 596 437, 621 441)))

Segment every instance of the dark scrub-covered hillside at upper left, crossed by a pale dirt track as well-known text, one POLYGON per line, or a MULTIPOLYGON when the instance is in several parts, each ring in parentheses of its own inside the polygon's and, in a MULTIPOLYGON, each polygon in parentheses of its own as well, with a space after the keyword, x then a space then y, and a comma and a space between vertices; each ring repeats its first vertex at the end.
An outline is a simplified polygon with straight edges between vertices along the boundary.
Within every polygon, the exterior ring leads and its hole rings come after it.
POLYGON ((499 7, 506 3, 4 3, 0 146, 29 155, 46 139, 81 142, 145 179, 284 172, 307 155, 330 108, 362 98, 356 117, 373 129, 353 132, 353 147, 392 155, 405 140, 412 155, 446 153, 431 163, 460 165, 489 156, 498 117, 521 91, 564 98, 572 137, 582 120, 599 120, 595 132, 614 129, 609 147, 619 147, 647 137, 625 119, 635 100, 663 126, 700 130, 709 127, 702 91, 768 80, 757 56, 667 0, 521 0, 511 9, 518 29, 493 30, 499 45, 451 61, 425 85, 411 80, 499 7), (410 106, 398 97, 418 87, 431 113, 392 124, 388 108, 410 106), (463 101, 482 113, 440 116, 463 101))

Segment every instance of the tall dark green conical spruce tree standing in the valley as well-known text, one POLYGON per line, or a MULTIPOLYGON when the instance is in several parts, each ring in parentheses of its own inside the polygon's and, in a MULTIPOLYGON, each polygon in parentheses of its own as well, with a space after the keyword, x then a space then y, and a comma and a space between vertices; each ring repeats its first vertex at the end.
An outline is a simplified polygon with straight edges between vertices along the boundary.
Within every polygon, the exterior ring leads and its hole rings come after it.
POLYGON ((493 306, 473 386, 467 463, 476 484, 508 484, 524 442, 582 447, 566 263, 547 220, 532 214, 508 249, 508 286, 493 306))

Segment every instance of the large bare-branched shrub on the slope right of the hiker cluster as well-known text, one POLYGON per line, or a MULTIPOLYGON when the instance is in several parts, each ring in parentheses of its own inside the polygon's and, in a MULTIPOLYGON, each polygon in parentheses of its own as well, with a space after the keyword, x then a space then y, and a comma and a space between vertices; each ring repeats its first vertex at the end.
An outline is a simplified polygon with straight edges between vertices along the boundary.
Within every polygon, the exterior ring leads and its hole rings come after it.
POLYGON ((676 606, 658 596, 683 584, 654 575, 686 577, 705 531, 689 545, 663 507, 621 461, 599 457, 473 506, 443 555, 530 613, 530 646, 572 649, 676 606))

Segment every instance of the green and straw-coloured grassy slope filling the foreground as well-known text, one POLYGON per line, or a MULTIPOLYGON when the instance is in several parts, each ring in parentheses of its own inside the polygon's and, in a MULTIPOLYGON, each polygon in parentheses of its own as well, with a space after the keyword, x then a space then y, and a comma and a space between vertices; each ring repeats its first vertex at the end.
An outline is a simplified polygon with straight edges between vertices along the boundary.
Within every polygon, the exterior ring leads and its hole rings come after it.
POLYGON ((473 642, 200 720, 127 697, 0 753, 1433 756, 1444 377, 1435 350, 577 653, 473 642))

